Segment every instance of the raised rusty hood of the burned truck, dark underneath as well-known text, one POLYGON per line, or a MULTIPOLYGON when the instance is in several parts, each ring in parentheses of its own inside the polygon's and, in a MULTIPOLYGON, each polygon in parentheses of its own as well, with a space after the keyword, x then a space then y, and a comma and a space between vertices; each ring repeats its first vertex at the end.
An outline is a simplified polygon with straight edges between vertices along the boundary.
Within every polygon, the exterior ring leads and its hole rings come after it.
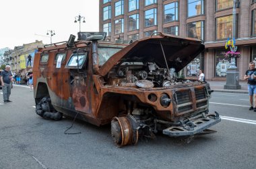
POLYGON ((179 72, 203 50, 204 45, 200 40, 159 33, 156 36, 136 40, 115 53, 100 67, 98 73, 104 76, 117 63, 135 61, 156 63, 159 67, 166 67, 167 62, 169 68, 179 72))

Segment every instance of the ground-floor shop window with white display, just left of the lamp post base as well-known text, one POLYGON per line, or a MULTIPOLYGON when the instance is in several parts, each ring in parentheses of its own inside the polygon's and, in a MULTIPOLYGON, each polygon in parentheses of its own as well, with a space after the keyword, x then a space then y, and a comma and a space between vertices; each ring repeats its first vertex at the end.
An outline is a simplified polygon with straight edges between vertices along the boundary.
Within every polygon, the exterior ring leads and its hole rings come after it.
POLYGON ((230 67, 231 59, 226 58, 224 53, 226 53, 225 50, 216 50, 216 77, 226 77, 226 70, 230 67))

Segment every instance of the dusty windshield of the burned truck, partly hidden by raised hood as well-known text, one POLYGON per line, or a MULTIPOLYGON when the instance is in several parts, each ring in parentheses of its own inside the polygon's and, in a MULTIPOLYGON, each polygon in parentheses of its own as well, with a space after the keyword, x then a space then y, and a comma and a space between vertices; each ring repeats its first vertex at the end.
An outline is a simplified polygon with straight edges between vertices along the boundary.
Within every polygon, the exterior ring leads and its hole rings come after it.
POLYGON ((110 57, 121 49, 122 48, 98 47, 99 65, 102 66, 110 57))

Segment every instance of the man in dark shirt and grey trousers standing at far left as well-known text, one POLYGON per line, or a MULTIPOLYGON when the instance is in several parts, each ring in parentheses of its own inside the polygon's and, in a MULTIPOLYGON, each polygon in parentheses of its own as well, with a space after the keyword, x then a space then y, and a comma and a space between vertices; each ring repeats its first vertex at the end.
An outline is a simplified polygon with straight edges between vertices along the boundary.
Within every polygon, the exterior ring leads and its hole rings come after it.
POLYGON ((11 70, 11 67, 9 65, 6 65, 5 70, 1 71, 3 103, 11 102, 11 100, 9 100, 9 96, 11 95, 11 83, 13 81, 13 76, 10 70, 11 70))

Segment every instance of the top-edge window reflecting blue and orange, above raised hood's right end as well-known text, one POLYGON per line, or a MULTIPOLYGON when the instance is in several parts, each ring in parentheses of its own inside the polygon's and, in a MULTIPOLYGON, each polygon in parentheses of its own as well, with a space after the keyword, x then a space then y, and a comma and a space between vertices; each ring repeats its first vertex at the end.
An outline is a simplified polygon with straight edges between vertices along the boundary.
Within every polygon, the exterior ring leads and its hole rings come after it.
POLYGON ((204 14, 204 0, 187 0, 187 17, 204 14))

